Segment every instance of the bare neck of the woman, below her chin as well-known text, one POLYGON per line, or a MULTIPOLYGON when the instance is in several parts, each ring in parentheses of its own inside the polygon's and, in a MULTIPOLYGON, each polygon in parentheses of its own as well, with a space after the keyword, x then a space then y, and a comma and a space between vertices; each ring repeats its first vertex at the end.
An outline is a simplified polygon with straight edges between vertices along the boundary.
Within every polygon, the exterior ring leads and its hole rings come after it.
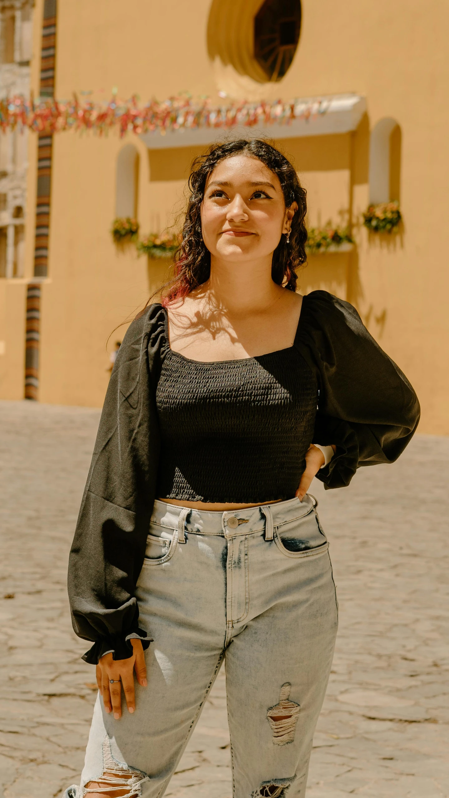
POLYGON ((254 263, 229 263, 211 256, 210 277, 201 293, 209 305, 232 314, 264 311, 279 298, 272 281, 272 255, 254 263))

